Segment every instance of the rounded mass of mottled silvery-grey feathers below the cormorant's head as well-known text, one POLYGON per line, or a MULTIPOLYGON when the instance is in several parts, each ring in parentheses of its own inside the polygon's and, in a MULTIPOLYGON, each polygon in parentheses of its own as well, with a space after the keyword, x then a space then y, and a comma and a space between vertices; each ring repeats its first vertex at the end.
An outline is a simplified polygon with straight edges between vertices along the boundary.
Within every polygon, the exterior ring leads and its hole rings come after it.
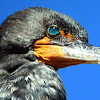
POLYGON ((0 80, 0 100, 66 100, 57 73, 42 63, 27 63, 0 80))

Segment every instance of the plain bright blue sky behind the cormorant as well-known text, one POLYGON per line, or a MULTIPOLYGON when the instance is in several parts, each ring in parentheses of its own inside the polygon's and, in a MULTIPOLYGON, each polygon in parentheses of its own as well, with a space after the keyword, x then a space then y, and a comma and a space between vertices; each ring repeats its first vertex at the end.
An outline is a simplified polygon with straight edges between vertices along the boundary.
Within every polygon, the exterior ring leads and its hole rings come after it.
MULTIPOLYGON (((100 46, 99 0, 0 0, 0 24, 14 12, 36 6, 71 16, 86 29, 89 43, 100 46)), ((100 100, 100 65, 70 66, 57 73, 64 84, 67 100, 100 100)))

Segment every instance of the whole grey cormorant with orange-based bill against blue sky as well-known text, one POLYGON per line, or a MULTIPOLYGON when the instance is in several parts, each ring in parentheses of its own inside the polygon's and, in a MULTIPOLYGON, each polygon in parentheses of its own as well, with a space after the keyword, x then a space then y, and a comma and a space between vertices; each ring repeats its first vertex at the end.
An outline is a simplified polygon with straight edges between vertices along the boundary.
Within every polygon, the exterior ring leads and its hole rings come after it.
POLYGON ((34 7, 0 27, 0 100, 66 100, 56 73, 70 65, 100 63, 100 48, 69 16, 34 7))

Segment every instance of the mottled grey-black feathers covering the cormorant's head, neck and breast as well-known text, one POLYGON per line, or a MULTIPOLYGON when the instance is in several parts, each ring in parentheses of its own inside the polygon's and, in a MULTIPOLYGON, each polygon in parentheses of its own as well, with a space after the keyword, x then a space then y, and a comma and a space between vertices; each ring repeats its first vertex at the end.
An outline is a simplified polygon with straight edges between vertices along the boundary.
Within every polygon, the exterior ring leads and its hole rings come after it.
MULTIPOLYGON (((88 42, 87 33, 69 16, 35 7, 9 16, 0 27, 0 100, 66 100, 63 84, 52 66, 38 62, 33 43, 50 25, 88 42)), ((68 45, 65 38, 52 43, 68 45)))

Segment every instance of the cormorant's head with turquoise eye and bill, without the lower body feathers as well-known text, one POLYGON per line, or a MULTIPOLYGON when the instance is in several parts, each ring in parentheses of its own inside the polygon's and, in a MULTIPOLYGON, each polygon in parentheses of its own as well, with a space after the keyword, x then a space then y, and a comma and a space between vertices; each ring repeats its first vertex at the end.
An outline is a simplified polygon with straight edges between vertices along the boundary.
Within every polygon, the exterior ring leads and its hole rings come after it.
POLYGON ((100 48, 88 43, 85 29, 71 17, 47 8, 20 10, 3 22, 0 33, 1 53, 5 55, 33 51, 38 62, 55 70, 100 64, 100 48))

